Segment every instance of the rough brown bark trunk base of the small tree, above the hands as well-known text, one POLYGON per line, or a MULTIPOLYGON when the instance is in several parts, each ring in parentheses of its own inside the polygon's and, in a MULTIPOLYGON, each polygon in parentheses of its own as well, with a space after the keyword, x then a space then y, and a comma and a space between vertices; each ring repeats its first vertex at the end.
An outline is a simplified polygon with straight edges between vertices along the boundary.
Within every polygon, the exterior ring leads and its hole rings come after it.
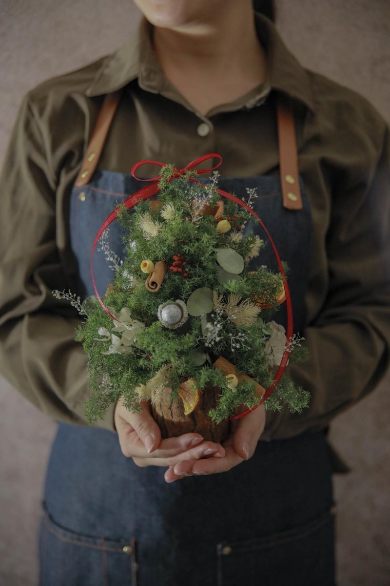
POLYGON ((206 386, 202 389, 198 406, 189 415, 184 414, 181 397, 176 397, 170 406, 171 390, 167 388, 157 404, 151 404, 151 414, 161 430, 161 438, 188 433, 201 434, 205 440, 222 442, 229 434, 229 420, 215 423, 209 415, 210 409, 218 406, 220 388, 206 386))

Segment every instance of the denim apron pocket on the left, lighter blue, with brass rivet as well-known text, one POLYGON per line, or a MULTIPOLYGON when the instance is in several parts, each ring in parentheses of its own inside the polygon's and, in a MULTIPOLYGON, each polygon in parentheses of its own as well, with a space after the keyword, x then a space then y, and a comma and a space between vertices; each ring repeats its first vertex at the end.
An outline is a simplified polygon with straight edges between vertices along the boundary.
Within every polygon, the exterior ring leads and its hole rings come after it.
POLYGON ((76 533, 58 524, 43 503, 39 586, 137 586, 136 541, 76 533))

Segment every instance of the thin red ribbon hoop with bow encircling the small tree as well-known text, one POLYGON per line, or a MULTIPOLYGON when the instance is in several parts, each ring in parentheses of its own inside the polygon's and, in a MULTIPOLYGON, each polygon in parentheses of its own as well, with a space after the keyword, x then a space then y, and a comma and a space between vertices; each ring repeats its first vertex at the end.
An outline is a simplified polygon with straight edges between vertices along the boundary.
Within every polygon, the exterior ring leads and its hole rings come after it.
MULTIPOLYGON (((215 158, 219 159, 219 162, 217 165, 210 167, 209 169, 197 169, 198 175, 202 175, 203 173, 208 173, 209 171, 214 171, 215 169, 218 169, 218 167, 221 165, 222 156, 219 155, 218 153, 212 152, 212 153, 209 153, 208 155, 203 155, 203 156, 199 157, 198 159, 191 161, 183 169, 177 169, 177 168, 173 167, 173 173, 170 176, 170 178, 168 178, 168 181, 172 181, 173 179, 177 179, 177 178, 181 177, 182 175, 184 175, 184 173, 186 171, 191 171, 192 169, 195 169, 198 165, 200 165, 204 161, 208 161, 208 159, 215 159, 215 158)), ((149 159, 145 160, 145 161, 139 161, 138 163, 136 163, 135 165, 132 166, 131 173, 135 179, 138 179, 139 181, 151 181, 152 183, 149 183, 149 185, 146 185, 144 188, 139 189, 137 192, 135 192, 132 195, 130 195, 129 197, 127 197, 123 203, 118 205, 111 212, 111 214, 109 214, 109 216, 106 217, 106 219, 102 223, 101 227, 99 228, 98 233, 96 234, 94 244, 92 244, 91 261, 90 261, 92 285, 94 287, 94 291, 95 291, 96 297, 98 298, 99 304, 101 304, 101 306, 104 309, 104 311, 106 312, 106 314, 108 314, 112 319, 115 319, 115 318, 110 313, 110 311, 106 307, 106 305, 103 303, 103 301, 99 295, 98 289, 96 288, 96 283, 95 283, 95 278, 94 278, 94 270, 93 270, 93 266, 92 266, 93 256, 94 256, 96 244, 98 244, 100 237, 102 236, 102 234, 106 230, 106 228, 108 228, 108 226, 110 224, 112 224, 112 222, 114 222, 114 220, 116 220, 116 218, 118 217, 118 212, 122 206, 125 206, 127 209, 130 210, 130 209, 132 209, 132 207, 134 207, 141 200, 149 199, 149 197, 153 197, 153 195, 156 195, 156 193, 158 193, 160 191, 160 189, 158 188, 158 182, 160 182, 161 175, 157 175, 156 177, 153 177, 151 179, 141 179, 139 177, 136 177, 136 175, 134 174, 137 171, 137 169, 140 168, 141 165, 146 165, 146 164, 158 165, 159 167, 166 166, 166 163, 161 163, 159 161, 151 161, 149 159)), ((194 179, 194 178, 189 178, 189 179, 194 183, 199 183, 199 181, 196 181, 196 179, 194 179)), ((229 417, 229 420, 233 420, 233 419, 239 419, 241 417, 244 417, 244 415, 247 415, 251 411, 254 411, 258 406, 260 406, 262 403, 264 403, 264 401, 270 396, 272 391, 277 386, 277 384, 278 384, 279 380, 281 379, 282 374, 284 373, 284 370, 287 366, 288 356, 289 356, 289 343, 291 342, 291 338, 293 335, 294 325, 293 325, 293 318, 292 318, 291 295, 290 295, 289 287, 287 284, 287 280, 285 278, 286 275, 283 270, 282 262, 279 258, 277 248, 275 247, 274 241, 272 240, 270 233, 268 232, 267 228, 264 226, 263 222, 261 221, 261 219, 257 215, 257 213, 254 212, 253 209, 251 209, 251 207, 249 207, 249 205, 247 205, 247 203, 243 202, 243 200, 232 195, 231 193, 227 193, 226 191, 223 191, 222 189, 218 189, 218 193, 219 193, 219 195, 226 197, 226 199, 230 199, 230 200, 232 200, 232 202, 238 203, 240 206, 244 207, 248 212, 250 212, 254 217, 256 217, 256 219, 260 223, 260 226, 265 231, 265 234, 267 234, 268 240, 270 240, 272 249, 274 250, 274 254, 275 254, 275 257, 276 257, 276 260, 278 263, 279 271, 281 272, 282 277, 284 277, 283 286, 284 286, 284 291, 285 291, 285 296, 286 296, 286 306, 287 306, 286 345, 285 345, 284 353, 282 356, 281 363, 279 364, 277 373, 275 374, 275 377, 272 380, 272 383, 270 384, 268 389, 265 390, 264 396, 261 398, 261 400, 254 407, 250 407, 246 411, 243 411, 243 413, 239 413, 238 415, 234 415, 233 417, 229 417)))

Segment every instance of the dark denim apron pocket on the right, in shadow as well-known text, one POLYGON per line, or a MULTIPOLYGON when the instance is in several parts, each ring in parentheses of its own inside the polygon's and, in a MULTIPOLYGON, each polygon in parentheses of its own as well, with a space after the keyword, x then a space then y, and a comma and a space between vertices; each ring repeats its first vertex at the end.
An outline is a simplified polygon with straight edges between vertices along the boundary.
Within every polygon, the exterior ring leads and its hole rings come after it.
POLYGON ((271 536, 218 543, 217 586, 334 586, 335 511, 271 536))

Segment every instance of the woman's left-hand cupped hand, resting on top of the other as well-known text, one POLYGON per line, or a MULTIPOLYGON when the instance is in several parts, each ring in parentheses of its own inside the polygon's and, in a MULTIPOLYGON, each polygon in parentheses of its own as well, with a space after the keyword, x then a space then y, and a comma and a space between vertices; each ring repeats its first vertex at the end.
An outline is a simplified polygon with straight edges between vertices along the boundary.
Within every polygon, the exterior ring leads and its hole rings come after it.
POLYGON ((114 423, 120 449, 137 466, 174 466, 182 460, 194 462, 210 454, 218 459, 225 455, 220 444, 204 441, 200 434, 184 434, 161 440, 161 432, 150 414, 149 401, 142 401, 141 413, 133 413, 123 406, 120 398, 115 406, 114 423))

